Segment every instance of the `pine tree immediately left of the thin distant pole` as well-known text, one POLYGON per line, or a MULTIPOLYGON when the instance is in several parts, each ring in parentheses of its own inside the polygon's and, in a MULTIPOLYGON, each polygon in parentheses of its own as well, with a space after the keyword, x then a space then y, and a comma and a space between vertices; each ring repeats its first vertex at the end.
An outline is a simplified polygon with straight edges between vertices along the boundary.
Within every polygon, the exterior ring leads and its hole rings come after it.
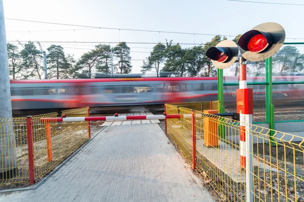
POLYGON ((20 74, 24 79, 39 78, 43 75, 44 68, 40 65, 42 62, 41 52, 36 48, 33 42, 25 43, 24 49, 20 52, 22 58, 22 71, 20 74))

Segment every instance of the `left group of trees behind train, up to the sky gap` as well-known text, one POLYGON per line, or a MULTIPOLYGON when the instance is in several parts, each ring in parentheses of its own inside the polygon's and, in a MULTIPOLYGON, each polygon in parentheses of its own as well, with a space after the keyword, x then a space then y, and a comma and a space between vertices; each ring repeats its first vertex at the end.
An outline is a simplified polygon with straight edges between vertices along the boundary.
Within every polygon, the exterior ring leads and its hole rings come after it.
MULTIPOLYGON (((12 79, 44 79, 44 61, 42 52, 34 42, 24 44, 19 51, 17 45, 7 44, 9 72, 12 79)), ((130 47, 126 42, 120 42, 112 48, 114 73, 128 74, 132 70, 130 47)), ((73 55, 65 54, 60 45, 47 48, 48 79, 80 78, 86 73, 111 72, 111 47, 98 44, 94 49, 83 54, 78 61, 73 55)))

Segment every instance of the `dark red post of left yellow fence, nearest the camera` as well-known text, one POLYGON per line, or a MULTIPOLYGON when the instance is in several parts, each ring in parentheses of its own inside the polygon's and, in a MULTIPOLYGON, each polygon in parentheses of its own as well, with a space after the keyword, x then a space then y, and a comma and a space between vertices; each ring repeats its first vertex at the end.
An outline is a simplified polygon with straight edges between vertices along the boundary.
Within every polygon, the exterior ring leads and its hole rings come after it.
POLYGON ((28 172, 29 172, 29 185, 35 183, 34 180, 34 148, 32 136, 32 118, 26 117, 26 130, 27 130, 27 148, 28 148, 28 172))

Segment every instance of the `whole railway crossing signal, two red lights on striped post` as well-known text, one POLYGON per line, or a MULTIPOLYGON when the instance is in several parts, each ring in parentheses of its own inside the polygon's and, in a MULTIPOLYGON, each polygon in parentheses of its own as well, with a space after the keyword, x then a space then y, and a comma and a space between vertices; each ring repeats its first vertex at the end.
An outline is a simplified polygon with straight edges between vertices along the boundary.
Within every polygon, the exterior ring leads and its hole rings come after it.
MULTIPOLYGON (((240 114, 240 165, 246 168, 246 201, 253 201, 253 149, 250 124, 253 114, 253 90, 247 88, 246 60, 262 61, 275 55, 285 40, 285 30, 278 23, 262 23, 244 33, 238 40, 240 80, 237 89, 237 113, 240 114)), ((232 41, 233 42, 233 41, 232 41)), ((235 63, 238 47, 230 40, 223 40, 210 47, 206 56, 218 69, 225 69, 235 63), (226 41, 226 42, 225 42, 226 41)))

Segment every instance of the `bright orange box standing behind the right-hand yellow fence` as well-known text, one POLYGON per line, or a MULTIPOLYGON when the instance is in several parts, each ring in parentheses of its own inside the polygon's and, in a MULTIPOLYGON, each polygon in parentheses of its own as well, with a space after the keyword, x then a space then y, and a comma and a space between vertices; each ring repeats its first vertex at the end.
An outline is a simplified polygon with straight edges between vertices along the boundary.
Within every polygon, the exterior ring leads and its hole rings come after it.
MULTIPOLYGON (((204 110, 204 114, 217 114, 216 110, 204 110)), ((204 117, 204 144, 206 146, 218 146, 218 123, 204 117)))

